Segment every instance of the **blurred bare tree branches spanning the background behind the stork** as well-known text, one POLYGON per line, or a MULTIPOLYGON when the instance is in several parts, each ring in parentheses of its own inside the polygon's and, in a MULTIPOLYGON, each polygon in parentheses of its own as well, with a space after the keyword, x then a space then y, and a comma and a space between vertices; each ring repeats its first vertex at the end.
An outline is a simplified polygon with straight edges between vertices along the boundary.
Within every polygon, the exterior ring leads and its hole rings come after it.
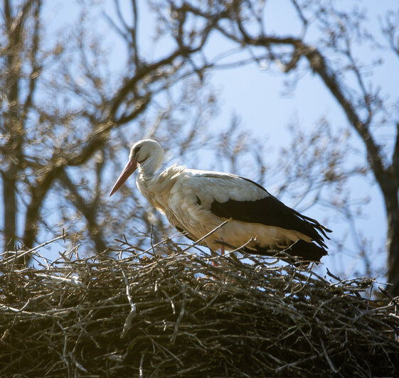
MULTIPOLYGON (((5 250, 16 243, 31 248, 61 229, 89 237, 97 252, 128 223, 145 232, 154 225, 155 234, 164 234, 164 219, 137 191, 122 190, 112 207, 105 202, 112 172, 122 163, 120 152, 144 136, 192 161, 205 144, 232 168, 249 158, 262 181, 267 170, 262 148, 250 146, 265 144, 249 131, 243 138, 235 119, 228 130, 211 128, 218 102, 209 74, 256 63, 265 68, 265 82, 276 68, 293 86, 310 72, 335 99, 344 127, 321 119, 314 131, 291 129, 292 144, 279 161, 285 172, 280 192, 300 183, 296 198, 311 193, 310 202, 324 201, 356 228, 342 188, 353 175, 372 178, 385 204, 388 288, 399 294, 399 102, 373 75, 381 69, 395 75, 398 6, 370 28, 367 9, 356 2, 291 0, 285 6, 295 23, 277 33, 266 21, 274 16, 272 1, 133 0, 112 6, 87 1, 76 23, 48 38, 49 4, 4 0, 1 6, 5 250), (143 46, 144 33, 157 47, 151 54, 143 46), (106 45, 110 34, 124 48, 122 64, 115 64, 106 45), (357 166, 346 150, 351 131, 363 148, 357 166), (321 135, 328 136, 329 146, 321 135)), ((361 242, 358 247, 367 259, 361 242)))

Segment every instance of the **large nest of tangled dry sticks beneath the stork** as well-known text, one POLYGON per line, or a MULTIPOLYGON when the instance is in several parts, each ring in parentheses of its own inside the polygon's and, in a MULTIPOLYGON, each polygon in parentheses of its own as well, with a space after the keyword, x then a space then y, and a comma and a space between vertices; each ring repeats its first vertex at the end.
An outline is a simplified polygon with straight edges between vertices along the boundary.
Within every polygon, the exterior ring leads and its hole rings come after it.
POLYGON ((212 266, 170 240, 127 250, 126 259, 72 251, 40 269, 3 259, 0 375, 398 374, 398 302, 362 298, 371 279, 324 279, 270 259, 212 266))

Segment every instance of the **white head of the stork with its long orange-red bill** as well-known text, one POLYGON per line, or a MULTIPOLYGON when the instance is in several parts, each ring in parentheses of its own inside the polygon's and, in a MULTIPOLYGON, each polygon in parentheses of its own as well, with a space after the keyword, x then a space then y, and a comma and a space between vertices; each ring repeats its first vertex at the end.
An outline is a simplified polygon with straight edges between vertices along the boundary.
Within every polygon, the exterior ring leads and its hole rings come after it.
POLYGON ((130 149, 129 161, 119 175, 117 182, 111 190, 110 196, 123 185, 129 175, 136 171, 137 167, 140 173, 146 176, 154 175, 156 169, 161 165, 163 158, 164 150, 157 141, 143 139, 135 143, 130 149))

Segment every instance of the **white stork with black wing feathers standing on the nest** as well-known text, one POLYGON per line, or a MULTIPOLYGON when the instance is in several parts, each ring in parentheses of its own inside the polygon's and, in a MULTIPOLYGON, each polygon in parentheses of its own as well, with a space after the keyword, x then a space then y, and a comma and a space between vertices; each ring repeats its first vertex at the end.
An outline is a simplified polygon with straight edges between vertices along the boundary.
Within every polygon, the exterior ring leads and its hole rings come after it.
POLYGON ((139 168, 137 187, 171 225, 193 240, 212 232, 204 244, 216 251, 241 246, 252 254, 276 251, 320 261, 326 252, 323 237, 331 232, 316 220, 284 205, 261 185, 230 173, 171 166, 155 173, 164 158, 158 142, 144 139, 132 146, 129 162, 111 190, 113 195, 139 168))

